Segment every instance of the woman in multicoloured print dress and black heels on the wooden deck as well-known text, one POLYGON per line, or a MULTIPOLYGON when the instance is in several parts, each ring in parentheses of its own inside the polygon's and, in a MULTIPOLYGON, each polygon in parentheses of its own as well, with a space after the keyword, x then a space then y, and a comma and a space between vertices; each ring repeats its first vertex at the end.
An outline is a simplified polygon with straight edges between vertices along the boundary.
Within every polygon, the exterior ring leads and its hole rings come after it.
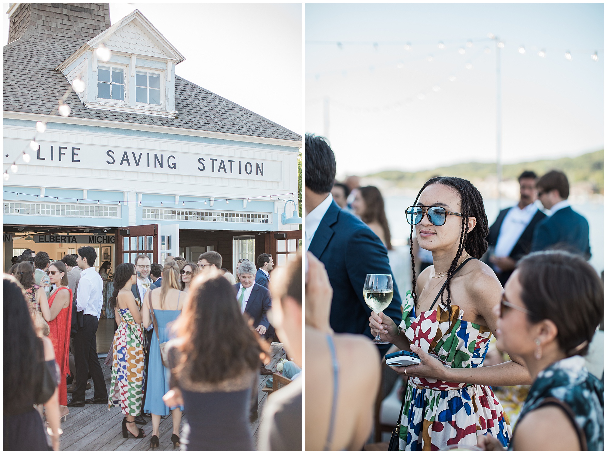
POLYGON ((114 335, 114 358, 108 408, 118 407, 126 415, 122 421, 122 435, 143 438, 143 429, 135 426, 135 416, 141 413, 143 400, 143 330, 141 329, 141 303, 131 292, 137 283, 135 265, 118 265, 114 274, 114 295, 110 304, 114 308, 118 330, 114 335))

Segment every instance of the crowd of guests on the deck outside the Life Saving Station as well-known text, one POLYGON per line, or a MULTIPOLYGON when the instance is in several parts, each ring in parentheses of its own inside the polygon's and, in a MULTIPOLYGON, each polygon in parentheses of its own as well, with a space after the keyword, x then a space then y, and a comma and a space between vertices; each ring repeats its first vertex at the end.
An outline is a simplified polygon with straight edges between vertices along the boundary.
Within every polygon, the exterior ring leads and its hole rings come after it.
MULTIPOLYGON (((86 404, 120 407, 124 438, 145 437, 137 424, 146 424, 144 416, 151 416, 152 448, 160 447, 160 420, 170 414, 174 447, 253 449, 249 396, 257 393, 258 373, 273 373, 263 361, 269 360, 268 342, 279 340, 277 333, 284 339, 297 372, 301 371, 301 339, 296 341, 292 329, 297 310, 291 304, 296 301, 296 308, 299 304, 301 320, 301 282, 299 290, 293 286, 297 270, 289 265, 287 270, 281 270, 284 274, 278 282, 270 284, 273 259, 270 254, 262 254, 257 258, 259 270, 249 260, 239 262, 236 282, 222 268, 222 256, 214 251, 200 255, 197 263, 168 257, 161 266, 151 264, 149 256, 140 255, 134 264, 118 265, 111 276, 114 292, 110 307, 116 325, 106 361, 112 367, 108 392, 97 356, 96 333, 103 306, 103 281, 110 278, 111 264, 104 262, 96 272, 96 260, 95 249, 88 246, 78 249, 76 257, 67 255, 52 262, 46 252, 26 250, 5 275, 4 389, 5 396, 15 396, 5 398, 5 449, 38 450, 47 449, 50 444, 57 450, 59 418, 67 416, 70 407, 86 404), (274 295, 268 289, 271 285, 276 288, 274 295), (274 318, 276 332, 268 316, 273 299, 278 304, 276 313, 287 305, 280 312, 284 315, 274 318), (288 333, 280 330, 283 323, 289 327, 288 333), (21 347, 8 354, 7 348, 15 341, 21 342, 21 347), (25 350, 29 352, 29 362, 16 356, 25 350), (25 382, 27 389, 18 382, 18 376, 32 377, 32 381, 25 382), (94 394, 85 399, 89 378, 94 394), (38 392, 37 387, 52 392, 47 395, 38 392), (207 412, 201 402, 222 410, 207 412), (42 407, 46 410, 48 431, 42 429, 42 407), (184 410, 188 418, 180 435, 184 410), (7 436, 7 430, 19 436, 7 436)), ((266 412, 275 415, 274 422, 265 423, 266 449, 300 449, 300 431, 298 438, 297 430, 282 430, 285 421, 279 417, 284 413, 293 421, 299 396, 301 421, 301 386, 299 382, 297 394, 297 383, 288 387, 289 393, 277 392, 270 399, 274 405, 268 406, 266 412)), ((205 408, 211 407, 205 404, 205 408)), ((271 419, 268 417, 268 421, 271 419)))

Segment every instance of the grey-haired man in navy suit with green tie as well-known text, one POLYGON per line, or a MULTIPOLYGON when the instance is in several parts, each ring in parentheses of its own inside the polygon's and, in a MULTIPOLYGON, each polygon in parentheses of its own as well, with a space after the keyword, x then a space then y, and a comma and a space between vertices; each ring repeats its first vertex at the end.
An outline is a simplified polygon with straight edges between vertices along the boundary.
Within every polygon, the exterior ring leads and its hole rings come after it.
MULTIPOLYGON (((253 318, 253 326, 260 335, 266 335, 270 322, 268 321, 268 310, 272 307, 270 290, 255 282, 255 265, 249 260, 241 262, 237 267, 240 278, 238 284, 234 284, 236 299, 240 312, 248 313, 253 318)), ((263 375, 272 375, 272 371, 261 368, 263 375)))

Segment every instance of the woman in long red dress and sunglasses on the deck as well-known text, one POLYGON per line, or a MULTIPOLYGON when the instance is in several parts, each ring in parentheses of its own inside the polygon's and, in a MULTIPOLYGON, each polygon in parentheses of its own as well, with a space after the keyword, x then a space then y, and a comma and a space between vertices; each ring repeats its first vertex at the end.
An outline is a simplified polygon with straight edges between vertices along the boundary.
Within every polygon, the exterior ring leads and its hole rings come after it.
POLYGON ((49 338, 55 348, 55 361, 61 369, 59 384, 59 406, 61 417, 69 414, 67 409, 66 375, 70 370, 70 330, 72 327, 72 290, 67 286, 67 270, 63 262, 52 262, 49 265, 50 283, 56 289, 50 293, 49 305, 41 304, 41 312, 49 323, 49 338))

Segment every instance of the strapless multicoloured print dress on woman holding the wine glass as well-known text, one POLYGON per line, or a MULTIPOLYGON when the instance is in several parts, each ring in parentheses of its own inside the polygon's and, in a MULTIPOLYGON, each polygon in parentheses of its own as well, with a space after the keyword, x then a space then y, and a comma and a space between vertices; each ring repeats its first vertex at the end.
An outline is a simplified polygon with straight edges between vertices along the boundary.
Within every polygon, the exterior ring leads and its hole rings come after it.
MULTIPOLYGON (((415 314, 411 292, 404 301, 401 329, 411 342, 458 369, 482 367, 491 332, 463 320, 452 304, 452 315, 438 301, 436 309, 415 314)), ((510 423, 491 387, 409 378, 402 412, 400 449, 444 450, 448 445, 475 446, 478 435, 492 435, 503 446, 512 436, 510 423)))

